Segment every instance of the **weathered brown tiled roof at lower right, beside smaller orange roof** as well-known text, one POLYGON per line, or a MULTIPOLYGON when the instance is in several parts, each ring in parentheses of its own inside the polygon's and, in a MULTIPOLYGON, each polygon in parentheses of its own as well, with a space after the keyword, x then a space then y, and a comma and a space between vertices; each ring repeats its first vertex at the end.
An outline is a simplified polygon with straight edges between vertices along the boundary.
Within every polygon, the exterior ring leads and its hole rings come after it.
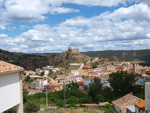
POLYGON ((117 100, 112 101, 114 105, 119 107, 123 113, 126 113, 126 106, 131 106, 140 102, 142 99, 134 96, 133 94, 127 94, 117 100))

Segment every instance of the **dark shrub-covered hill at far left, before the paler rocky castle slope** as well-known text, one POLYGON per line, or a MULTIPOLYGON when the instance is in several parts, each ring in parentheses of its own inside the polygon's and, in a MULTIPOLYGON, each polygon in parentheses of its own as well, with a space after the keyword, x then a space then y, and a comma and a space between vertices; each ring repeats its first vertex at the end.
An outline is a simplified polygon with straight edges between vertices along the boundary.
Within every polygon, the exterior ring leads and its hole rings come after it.
POLYGON ((0 49, 0 60, 16 64, 24 67, 24 69, 36 69, 41 68, 49 64, 47 56, 25 54, 25 53, 11 53, 0 49))

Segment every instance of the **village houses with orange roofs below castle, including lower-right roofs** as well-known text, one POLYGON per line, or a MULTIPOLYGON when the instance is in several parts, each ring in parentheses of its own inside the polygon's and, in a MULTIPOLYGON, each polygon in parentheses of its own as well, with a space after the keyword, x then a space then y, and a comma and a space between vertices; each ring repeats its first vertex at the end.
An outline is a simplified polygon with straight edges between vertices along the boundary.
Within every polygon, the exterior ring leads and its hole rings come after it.
MULTIPOLYGON (((78 54, 78 52, 79 51, 76 53, 75 51, 76 54, 78 54)), ((84 63, 70 63, 70 67, 73 67, 73 70, 66 74, 59 73, 61 72, 61 68, 54 66, 45 66, 42 69, 37 68, 35 71, 25 70, 24 76, 36 78, 36 80, 29 84, 29 94, 41 93, 44 89, 49 89, 50 92, 60 91, 63 90, 64 84, 66 85, 70 83, 77 83, 80 90, 88 91, 90 83, 92 83, 95 78, 101 80, 103 89, 112 89, 109 83, 109 75, 118 71, 126 71, 127 73, 138 74, 139 76, 137 76, 136 85, 141 85, 141 87, 143 87, 146 82, 150 81, 150 67, 141 66, 139 65, 138 61, 122 61, 115 64, 108 63, 106 66, 101 67, 91 67, 91 65, 84 63)), ((149 87, 150 84, 146 83, 146 88, 149 87)), ((148 100, 148 97, 145 100, 148 100)), ((115 111, 118 113, 144 113, 145 106, 148 106, 148 102, 145 103, 145 100, 142 100, 134 96, 132 93, 129 93, 124 97, 113 101, 112 104, 115 111)))

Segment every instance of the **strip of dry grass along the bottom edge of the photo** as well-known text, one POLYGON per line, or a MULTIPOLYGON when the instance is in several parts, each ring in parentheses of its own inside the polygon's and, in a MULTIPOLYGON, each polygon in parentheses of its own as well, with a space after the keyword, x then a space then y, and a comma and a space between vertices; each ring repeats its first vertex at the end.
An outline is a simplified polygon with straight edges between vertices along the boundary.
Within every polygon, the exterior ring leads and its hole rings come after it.
POLYGON ((65 108, 65 109, 53 109, 40 113, 115 113, 107 107, 98 108, 65 108))

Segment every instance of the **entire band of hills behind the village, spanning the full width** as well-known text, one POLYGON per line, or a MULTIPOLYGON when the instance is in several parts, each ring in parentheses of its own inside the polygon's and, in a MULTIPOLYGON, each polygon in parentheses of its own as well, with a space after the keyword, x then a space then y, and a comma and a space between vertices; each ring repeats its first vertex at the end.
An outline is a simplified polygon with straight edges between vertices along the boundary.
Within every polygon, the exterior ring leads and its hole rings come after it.
MULTIPOLYGON (((131 51, 90 51, 80 54, 62 53, 43 53, 43 54, 25 54, 11 53, 0 49, 0 60, 10 62, 24 67, 26 70, 41 68, 46 65, 57 65, 68 67, 70 63, 86 63, 91 57, 103 57, 111 59, 116 56, 119 60, 142 60, 150 61, 150 50, 131 50, 131 51)), ((150 62, 148 62, 150 64, 150 62)), ((143 64, 147 65, 147 64, 143 64)))

